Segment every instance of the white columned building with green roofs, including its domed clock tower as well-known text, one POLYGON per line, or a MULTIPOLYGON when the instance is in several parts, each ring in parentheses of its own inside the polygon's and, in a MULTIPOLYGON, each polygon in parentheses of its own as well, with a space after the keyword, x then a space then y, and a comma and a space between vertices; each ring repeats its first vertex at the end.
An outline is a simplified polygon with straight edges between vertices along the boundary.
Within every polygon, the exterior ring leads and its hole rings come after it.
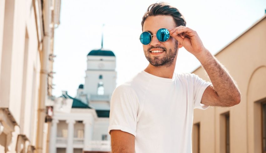
POLYGON ((107 153, 111 151, 108 134, 110 97, 116 87, 115 55, 110 50, 92 50, 87 55, 85 84, 72 98, 63 92, 61 105, 70 112, 54 110, 50 153, 107 153), (67 109, 67 108, 66 108, 67 109))

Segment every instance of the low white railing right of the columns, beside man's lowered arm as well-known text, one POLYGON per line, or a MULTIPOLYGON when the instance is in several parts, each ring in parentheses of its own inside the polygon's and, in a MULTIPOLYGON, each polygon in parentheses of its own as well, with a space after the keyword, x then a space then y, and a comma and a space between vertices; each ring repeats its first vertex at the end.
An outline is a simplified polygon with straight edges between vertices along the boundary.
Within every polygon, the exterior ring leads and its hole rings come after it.
POLYGON ((89 149, 92 151, 111 151, 110 141, 90 141, 89 149))

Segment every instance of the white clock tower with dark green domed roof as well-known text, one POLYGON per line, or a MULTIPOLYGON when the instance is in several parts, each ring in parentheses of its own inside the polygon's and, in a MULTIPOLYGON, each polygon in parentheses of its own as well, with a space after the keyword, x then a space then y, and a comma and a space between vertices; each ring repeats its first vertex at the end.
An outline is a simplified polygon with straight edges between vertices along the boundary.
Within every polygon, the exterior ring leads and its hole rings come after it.
POLYGON ((116 87, 115 54, 111 50, 91 50, 83 94, 96 110, 110 110, 110 98, 116 87))

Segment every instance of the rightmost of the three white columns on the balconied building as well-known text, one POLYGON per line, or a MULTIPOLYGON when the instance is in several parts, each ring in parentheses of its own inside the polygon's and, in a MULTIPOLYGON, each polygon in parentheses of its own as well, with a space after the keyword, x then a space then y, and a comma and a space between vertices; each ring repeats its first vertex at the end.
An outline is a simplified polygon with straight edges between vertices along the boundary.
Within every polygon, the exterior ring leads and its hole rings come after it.
POLYGON ((89 118, 83 121, 84 123, 84 150, 91 151, 90 141, 93 137, 93 119, 89 118))

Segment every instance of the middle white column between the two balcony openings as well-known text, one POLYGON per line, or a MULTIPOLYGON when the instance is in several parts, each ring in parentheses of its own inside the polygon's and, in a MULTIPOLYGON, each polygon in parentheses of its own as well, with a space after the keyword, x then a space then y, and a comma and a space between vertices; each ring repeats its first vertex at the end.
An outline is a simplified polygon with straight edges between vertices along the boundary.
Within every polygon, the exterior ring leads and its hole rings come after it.
POLYGON ((66 153, 73 153, 73 138, 74 138, 74 123, 75 120, 67 120, 68 123, 68 134, 67 134, 67 149, 66 153))

